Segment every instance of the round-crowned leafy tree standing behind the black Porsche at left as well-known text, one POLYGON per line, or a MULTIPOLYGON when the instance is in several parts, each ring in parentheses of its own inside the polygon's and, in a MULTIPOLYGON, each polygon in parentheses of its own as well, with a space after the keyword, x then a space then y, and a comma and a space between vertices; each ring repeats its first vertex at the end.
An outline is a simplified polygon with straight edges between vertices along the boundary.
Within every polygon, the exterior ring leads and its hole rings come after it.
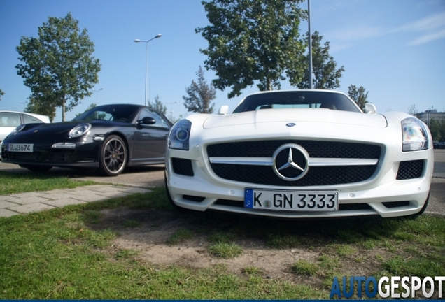
POLYGON ((16 49, 23 64, 15 68, 31 89, 30 99, 38 110, 62 107, 62 121, 66 111, 90 96, 99 82, 101 65, 92 56, 94 43, 86 29, 80 31, 71 13, 64 18, 48 17, 38 27, 38 38, 22 37, 16 49))

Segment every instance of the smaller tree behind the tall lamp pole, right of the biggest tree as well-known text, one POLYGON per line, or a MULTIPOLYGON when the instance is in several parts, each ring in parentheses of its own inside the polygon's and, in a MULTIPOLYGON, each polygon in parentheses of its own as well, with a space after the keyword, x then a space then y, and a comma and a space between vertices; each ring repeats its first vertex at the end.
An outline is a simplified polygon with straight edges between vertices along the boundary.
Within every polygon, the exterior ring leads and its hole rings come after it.
MULTIPOLYGON (((309 33, 306 33, 306 39, 309 33)), ((329 54, 329 42, 321 46, 321 40, 318 31, 312 34, 312 71, 313 71, 313 89, 335 89, 340 87, 340 80, 344 72, 344 66, 337 69, 337 62, 329 54)), ((304 56, 304 78, 301 81, 295 81, 297 78, 291 78, 290 84, 299 89, 309 89, 309 54, 304 56)))

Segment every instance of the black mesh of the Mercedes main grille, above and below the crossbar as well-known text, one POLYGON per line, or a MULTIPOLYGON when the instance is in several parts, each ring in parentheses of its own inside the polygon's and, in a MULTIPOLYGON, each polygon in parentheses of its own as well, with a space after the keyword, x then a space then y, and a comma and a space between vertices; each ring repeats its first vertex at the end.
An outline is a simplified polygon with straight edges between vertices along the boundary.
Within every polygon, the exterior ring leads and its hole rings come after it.
MULTIPOLYGON (((220 143, 209 145, 207 152, 209 157, 272 157, 276 149, 286 143, 301 145, 310 157, 379 159, 381 154, 377 145, 292 140, 220 143)), ((376 171, 376 165, 311 167, 304 178, 287 181, 279 178, 270 166, 211 164, 211 168, 216 175, 227 180, 283 187, 361 182, 371 178, 376 171)))

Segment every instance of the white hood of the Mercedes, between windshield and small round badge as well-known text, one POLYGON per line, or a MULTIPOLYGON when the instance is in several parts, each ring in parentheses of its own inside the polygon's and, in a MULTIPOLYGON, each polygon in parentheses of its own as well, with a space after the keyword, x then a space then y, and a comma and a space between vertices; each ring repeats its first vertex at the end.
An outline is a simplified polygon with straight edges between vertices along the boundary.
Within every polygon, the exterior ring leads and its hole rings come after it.
POLYGON ((331 124, 349 124, 366 127, 385 128, 386 118, 380 114, 367 115, 348 111, 307 108, 307 109, 263 109, 235 113, 232 115, 211 115, 204 121, 204 128, 236 126, 260 123, 301 123, 318 122, 331 124))

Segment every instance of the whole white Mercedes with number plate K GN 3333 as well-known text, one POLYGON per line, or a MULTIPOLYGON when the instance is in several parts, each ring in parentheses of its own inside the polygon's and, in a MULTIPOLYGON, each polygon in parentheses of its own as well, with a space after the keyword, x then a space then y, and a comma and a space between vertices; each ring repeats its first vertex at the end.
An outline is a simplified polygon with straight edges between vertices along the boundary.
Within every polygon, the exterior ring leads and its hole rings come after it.
POLYGON ((327 90, 260 92, 169 133, 165 184, 176 207, 281 217, 418 215, 432 138, 406 113, 367 113, 327 90))

